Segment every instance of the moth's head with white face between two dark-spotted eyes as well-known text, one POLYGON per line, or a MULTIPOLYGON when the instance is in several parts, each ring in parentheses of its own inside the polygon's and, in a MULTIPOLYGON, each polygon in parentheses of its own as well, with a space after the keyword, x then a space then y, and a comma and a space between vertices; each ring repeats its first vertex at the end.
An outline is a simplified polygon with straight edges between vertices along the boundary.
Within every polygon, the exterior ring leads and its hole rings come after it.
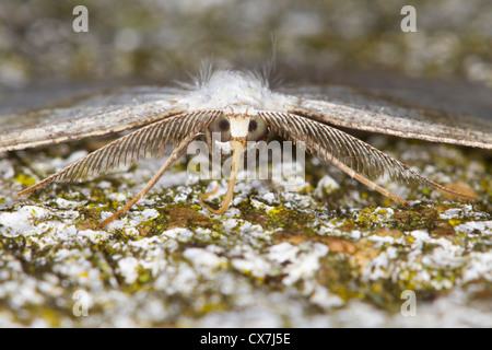
POLYGON ((212 135, 220 135, 221 142, 231 140, 256 142, 266 139, 268 127, 260 116, 224 115, 210 124, 209 131, 212 135))

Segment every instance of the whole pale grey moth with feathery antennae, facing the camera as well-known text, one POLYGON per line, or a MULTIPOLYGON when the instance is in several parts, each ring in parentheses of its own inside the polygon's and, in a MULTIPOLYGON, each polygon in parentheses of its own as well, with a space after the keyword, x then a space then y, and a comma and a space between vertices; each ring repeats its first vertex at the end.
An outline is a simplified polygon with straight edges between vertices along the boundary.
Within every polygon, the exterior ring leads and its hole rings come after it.
POLYGON ((274 90, 268 79, 255 72, 208 69, 194 83, 179 88, 133 88, 82 100, 68 107, 37 108, 24 116, 4 113, 0 117, 0 152, 134 129, 22 190, 19 196, 23 196, 54 182, 96 176, 137 163, 144 156, 161 154, 172 143, 174 149, 157 173, 133 199, 104 220, 103 228, 145 196, 189 144, 203 136, 210 147, 222 142, 232 150, 223 205, 215 210, 206 203, 216 189, 200 197, 200 203, 216 214, 231 205, 246 142, 266 140, 272 133, 304 142, 312 154, 402 206, 408 205, 405 199, 376 185, 373 178, 389 175, 464 200, 475 199, 419 175, 340 128, 492 149, 492 122, 488 118, 408 107, 343 88, 274 90), (220 133, 220 141, 210 137, 213 132, 220 133))

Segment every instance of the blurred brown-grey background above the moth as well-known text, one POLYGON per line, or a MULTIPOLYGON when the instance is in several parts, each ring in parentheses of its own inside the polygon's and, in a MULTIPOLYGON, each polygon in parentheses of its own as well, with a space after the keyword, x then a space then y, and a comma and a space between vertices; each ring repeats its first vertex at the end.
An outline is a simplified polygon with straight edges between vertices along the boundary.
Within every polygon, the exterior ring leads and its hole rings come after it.
POLYGON ((490 0, 2 0, 0 88, 167 82, 204 59, 255 68, 270 59, 272 37, 290 82, 377 72, 492 85, 490 0), (400 28, 407 4, 415 33, 400 28), (77 5, 89 10, 87 33, 72 30, 77 5))

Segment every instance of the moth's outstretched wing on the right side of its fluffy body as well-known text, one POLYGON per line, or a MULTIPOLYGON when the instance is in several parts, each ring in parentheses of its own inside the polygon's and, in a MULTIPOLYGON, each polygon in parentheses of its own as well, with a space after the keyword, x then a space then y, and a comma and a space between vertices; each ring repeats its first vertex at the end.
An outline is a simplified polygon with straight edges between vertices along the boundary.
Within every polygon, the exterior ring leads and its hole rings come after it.
POLYGON ((414 88, 418 92, 407 88, 382 93, 345 86, 305 86, 282 92, 297 96, 293 98, 296 103, 290 113, 324 124, 492 149, 490 90, 479 89, 478 93, 447 86, 449 94, 444 91, 437 98, 429 86, 426 90, 422 85, 414 88))

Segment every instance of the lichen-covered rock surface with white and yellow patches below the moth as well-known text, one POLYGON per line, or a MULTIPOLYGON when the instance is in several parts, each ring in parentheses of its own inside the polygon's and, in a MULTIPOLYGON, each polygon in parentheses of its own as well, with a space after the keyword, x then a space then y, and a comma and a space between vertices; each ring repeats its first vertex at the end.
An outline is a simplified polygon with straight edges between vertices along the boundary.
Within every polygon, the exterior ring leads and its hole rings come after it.
POLYGON ((190 182, 180 165, 98 230, 162 160, 14 198, 39 175, 34 170, 48 175, 83 147, 2 160, 2 325, 491 326, 485 152, 391 139, 385 145, 425 176, 466 184, 476 203, 383 184, 412 199, 401 208, 311 158, 313 183, 304 189, 239 180, 224 215, 199 206, 208 183, 190 182), (434 166, 419 161, 422 152, 434 166), (338 188, 320 190, 324 176, 338 188), (401 314, 405 291, 415 295, 414 317, 401 314), (78 317, 85 296, 89 316, 78 317))

